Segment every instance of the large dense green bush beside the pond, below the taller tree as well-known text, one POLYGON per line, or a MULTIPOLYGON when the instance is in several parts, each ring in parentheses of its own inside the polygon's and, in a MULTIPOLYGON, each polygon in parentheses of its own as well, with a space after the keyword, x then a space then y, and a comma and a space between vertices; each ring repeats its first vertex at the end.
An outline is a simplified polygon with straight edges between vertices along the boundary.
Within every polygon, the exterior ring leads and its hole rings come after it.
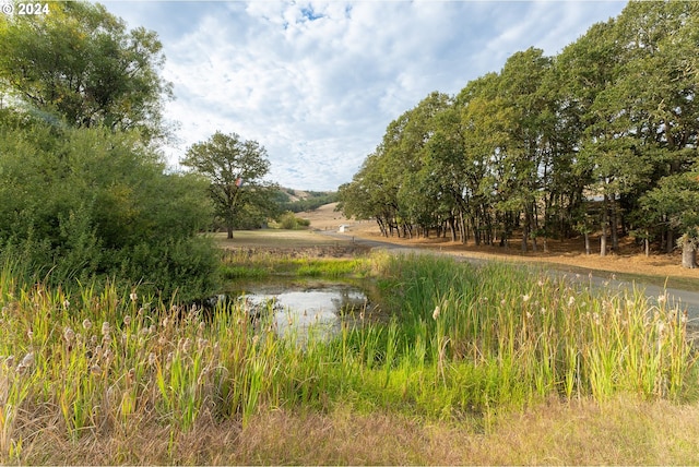
POLYGON ((0 127, 0 255, 27 280, 116 277, 199 297, 214 286, 206 183, 165 173, 131 133, 0 127))

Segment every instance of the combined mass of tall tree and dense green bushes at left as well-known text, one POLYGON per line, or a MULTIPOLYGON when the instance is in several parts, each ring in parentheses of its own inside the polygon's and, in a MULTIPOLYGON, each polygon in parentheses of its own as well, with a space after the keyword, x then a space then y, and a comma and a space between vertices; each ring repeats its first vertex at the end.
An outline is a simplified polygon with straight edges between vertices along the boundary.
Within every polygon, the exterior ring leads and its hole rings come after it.
POLYGON ((0 17, 0 261, 67 289, 210 294, 208 183, 166 172, 156 147, 170 95, 157 36, 99 4, 48 8, 0 17))

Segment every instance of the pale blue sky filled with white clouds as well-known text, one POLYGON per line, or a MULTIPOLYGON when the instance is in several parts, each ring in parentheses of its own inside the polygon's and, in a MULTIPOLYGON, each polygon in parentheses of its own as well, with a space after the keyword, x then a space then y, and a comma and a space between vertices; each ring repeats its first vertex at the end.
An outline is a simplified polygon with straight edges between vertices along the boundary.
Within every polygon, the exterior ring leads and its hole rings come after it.
POLYGON ((268 179, 336 190, 388 124, 433 91, 458 94, 530 47, 559 53, 626 1, 103 1, 155 31, 175 99, 165 118, 181 168, 216 131, 266 149, 268 179))

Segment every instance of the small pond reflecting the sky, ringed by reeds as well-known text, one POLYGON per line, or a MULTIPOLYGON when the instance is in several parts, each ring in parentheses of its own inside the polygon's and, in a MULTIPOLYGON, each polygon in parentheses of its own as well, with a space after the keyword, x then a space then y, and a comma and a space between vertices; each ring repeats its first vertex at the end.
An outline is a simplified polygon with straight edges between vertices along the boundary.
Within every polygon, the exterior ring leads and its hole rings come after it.
POLYGON ((238 284, 229 294, 250 310, 271 310, 276 333, 301 345, 310 337, 330 339, 343 325, 360 326, 380 314, 369 284, 277 280, 238 284))

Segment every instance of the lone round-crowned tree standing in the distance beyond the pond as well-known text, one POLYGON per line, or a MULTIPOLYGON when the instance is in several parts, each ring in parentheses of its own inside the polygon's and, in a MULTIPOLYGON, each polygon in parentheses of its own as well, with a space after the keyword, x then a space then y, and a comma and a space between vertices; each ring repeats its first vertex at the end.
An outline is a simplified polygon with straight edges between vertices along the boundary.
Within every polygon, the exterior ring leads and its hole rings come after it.
POLYGON ((241 216, 252 212, 276 214, 277 187, 264 181, 270 161, 266 149, 257 141, 217 131, 209 140, 193 144, 181 164, 211 182, 209 193, 215 214, 225 224, 229 239, 236 225, 241 224, 241 216))

